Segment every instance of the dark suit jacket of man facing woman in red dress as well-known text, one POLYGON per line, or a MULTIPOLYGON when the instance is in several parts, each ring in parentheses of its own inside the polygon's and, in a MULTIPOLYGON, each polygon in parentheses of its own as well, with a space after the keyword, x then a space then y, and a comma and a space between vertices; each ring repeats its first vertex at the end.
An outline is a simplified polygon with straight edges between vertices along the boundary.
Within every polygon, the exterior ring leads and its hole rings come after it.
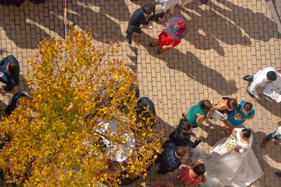
POLYGON ((148 4, 149 6, 152 7, 153 10, 153 15, 146 21, 145 15, 143 12, 143 7, 138 8, 132 15, 132 17, 129 20, 129 24, 134 25, 136 27, 140 27, 140 24, 147 25, 149 21, 154 20, 154 14, 155 14, 155 5, 153 4, 148 4))

